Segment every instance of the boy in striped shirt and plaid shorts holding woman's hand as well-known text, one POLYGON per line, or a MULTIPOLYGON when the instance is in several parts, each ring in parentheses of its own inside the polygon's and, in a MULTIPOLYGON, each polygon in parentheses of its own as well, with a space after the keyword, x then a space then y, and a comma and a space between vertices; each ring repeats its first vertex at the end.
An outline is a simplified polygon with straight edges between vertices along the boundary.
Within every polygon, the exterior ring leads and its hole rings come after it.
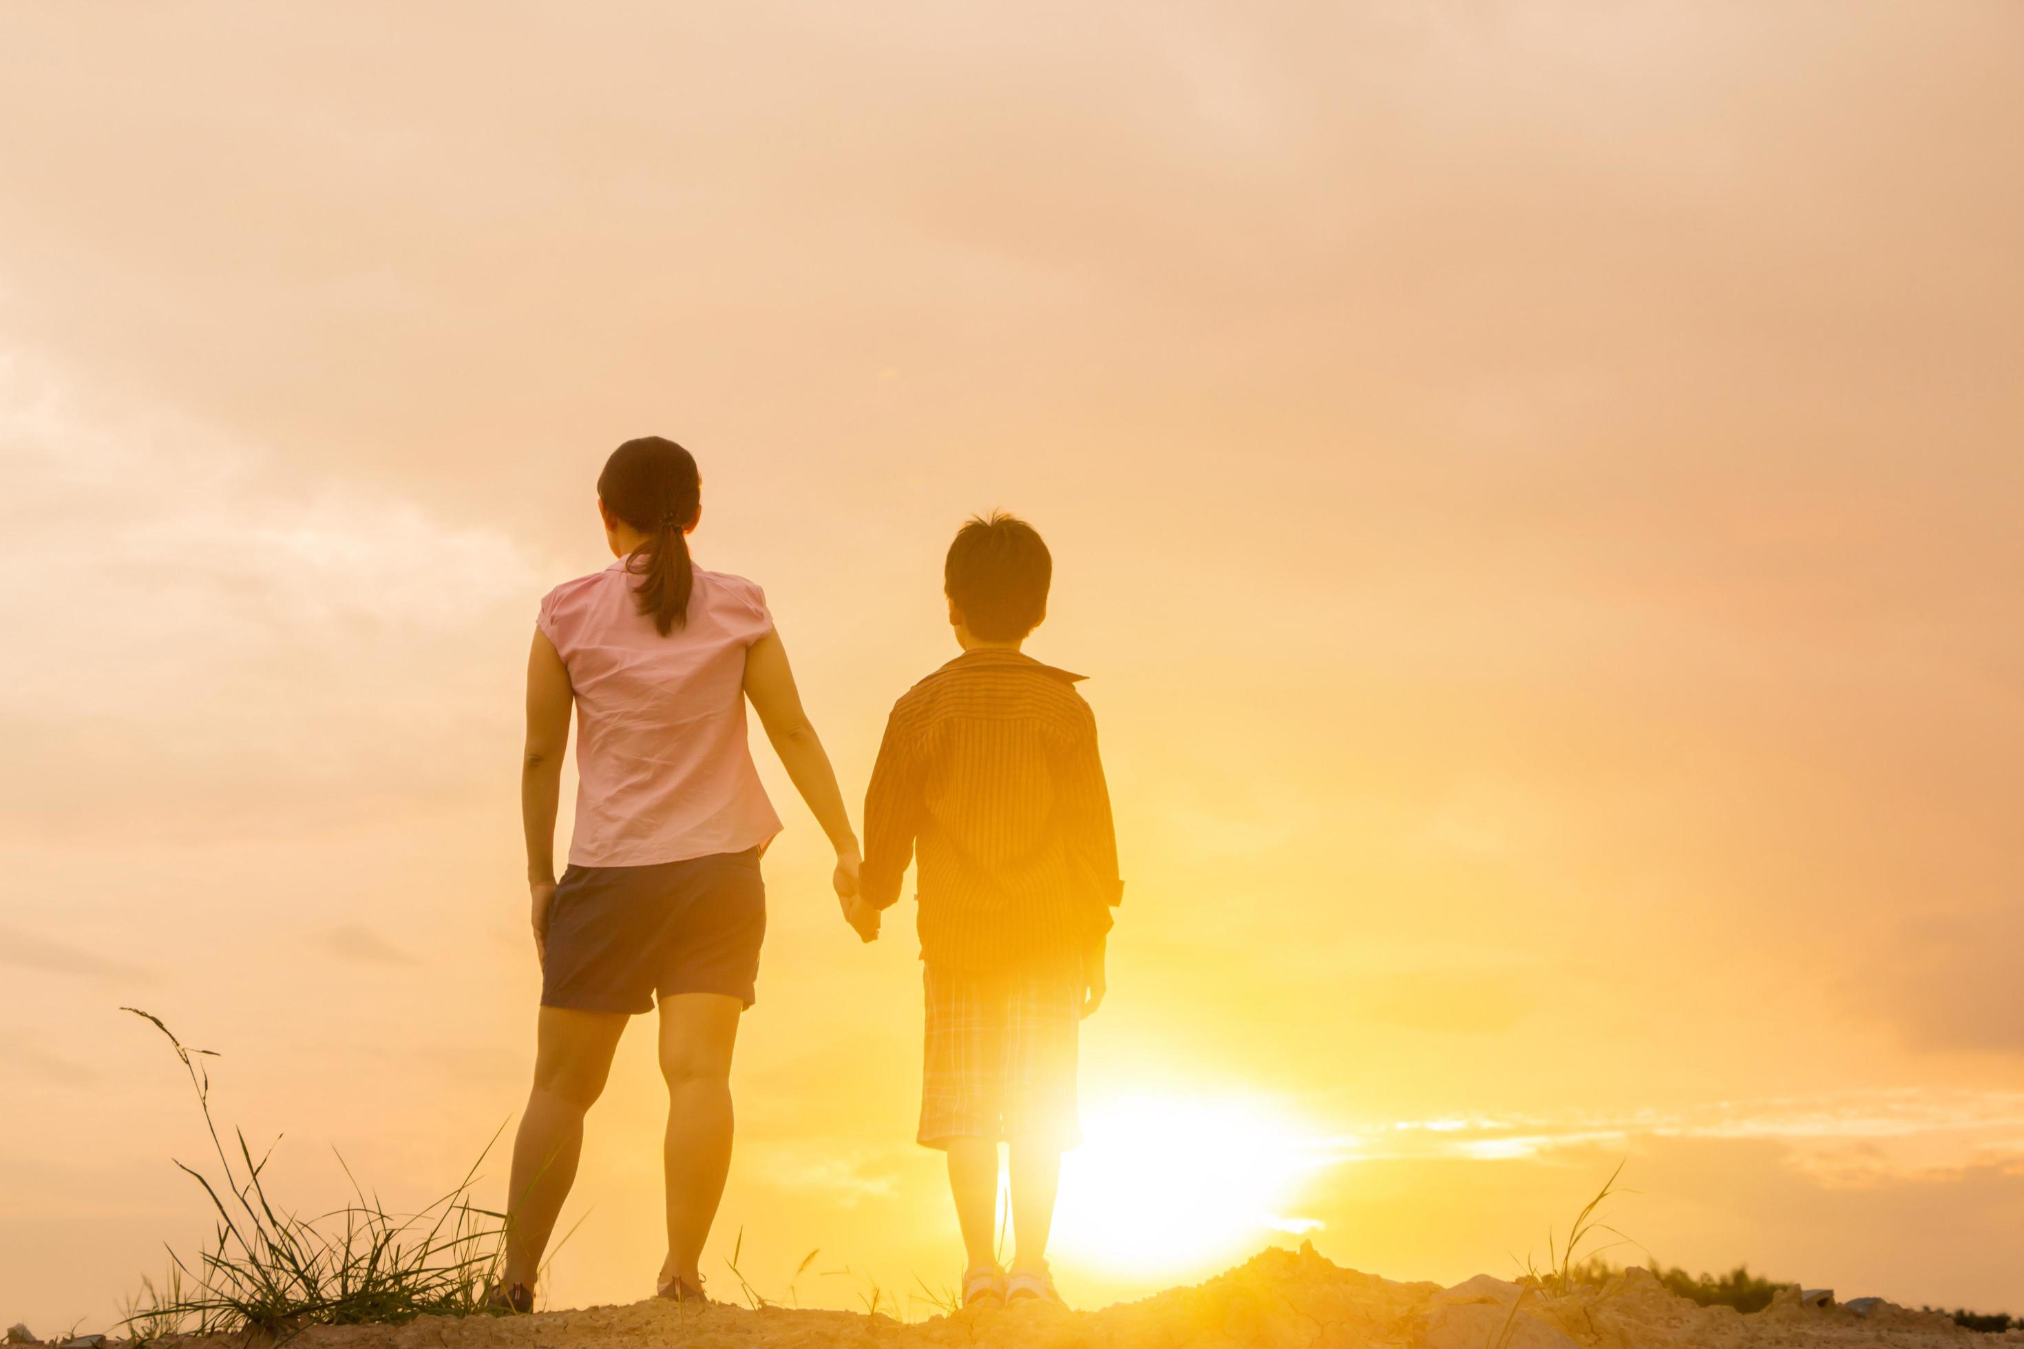
POLYGON ((1073 676, 1020 653, 1055 560, 1024 520, 972 518, 943 591, 963 649, 893 706, 864 799, 870 940, 919 851, 925 1147, 949 1155, 969 1268, 963 1305, 1059 1302, 1046 1268, 1061 1153, 1081 1143, 1077 1021, 1103 1001, 1117 880, 1097 720, 1073 676), (1010 1272, 994 1254, 998 1143, 1010 1145, 1010 1272))

